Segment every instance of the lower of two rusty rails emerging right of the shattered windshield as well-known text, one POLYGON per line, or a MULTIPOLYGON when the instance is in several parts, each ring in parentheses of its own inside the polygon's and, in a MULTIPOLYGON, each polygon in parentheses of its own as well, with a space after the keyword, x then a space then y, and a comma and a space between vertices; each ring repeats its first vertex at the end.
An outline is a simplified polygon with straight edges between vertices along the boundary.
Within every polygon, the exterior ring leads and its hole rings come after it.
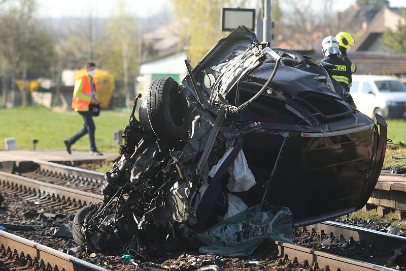
POLYGON ((297 261, 299 263, 307 260, 310 266, 314 266, 315 263, 317 263, 320 268, 324 268, 325 266, 328 265, 330 270, 337 270, 337 268, 340 268, 342 271, 395 270, 392 268, 376 265, 373 263, 367 263, 346 257, 341 257, 314 249, 300 247, 293 244, 277 241, 275 242, 275 245, 277 246, 278 249, 278 257, 286 257, 285 255, 287 255, 289 260, 292 260, 294 257, 297 257, 297 261))

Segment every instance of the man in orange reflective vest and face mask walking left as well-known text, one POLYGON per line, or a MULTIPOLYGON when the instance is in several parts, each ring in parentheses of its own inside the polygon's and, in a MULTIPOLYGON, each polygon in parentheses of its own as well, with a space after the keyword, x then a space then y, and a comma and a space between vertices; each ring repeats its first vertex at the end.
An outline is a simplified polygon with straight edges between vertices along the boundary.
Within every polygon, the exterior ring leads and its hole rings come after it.
POLYGON ((89 110, 91 104, 98 104, 97 85, 94 81, 96 65, 92 62, 86 64, 86 74, 79 78, 75 83, 73 91, 72 107, 83 117, 84 127, 71 138, 64 140, 66 150, 71 154, 71 146, 82 136, 89 134, 90 153, 92 155, 103 155, 98 152, 94 141, 94 130, 96 127, 93 122, 93 112, 89 110))

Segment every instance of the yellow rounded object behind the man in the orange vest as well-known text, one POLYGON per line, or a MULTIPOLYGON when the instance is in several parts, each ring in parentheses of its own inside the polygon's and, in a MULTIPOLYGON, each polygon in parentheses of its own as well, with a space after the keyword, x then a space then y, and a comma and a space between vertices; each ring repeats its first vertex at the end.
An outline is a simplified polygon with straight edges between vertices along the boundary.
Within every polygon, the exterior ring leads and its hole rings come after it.
MULTIPOLYGON (((85 69, 79 70, 75 75, 75 79, 78 80, 81 78, 85 72, 85 69)), ((97 98, 100 103, 100 107, 107 109, 109 107, 111 97, 113 96, 114 77, 106 70, 96 69, 94 79, 97 84, 97 98)))

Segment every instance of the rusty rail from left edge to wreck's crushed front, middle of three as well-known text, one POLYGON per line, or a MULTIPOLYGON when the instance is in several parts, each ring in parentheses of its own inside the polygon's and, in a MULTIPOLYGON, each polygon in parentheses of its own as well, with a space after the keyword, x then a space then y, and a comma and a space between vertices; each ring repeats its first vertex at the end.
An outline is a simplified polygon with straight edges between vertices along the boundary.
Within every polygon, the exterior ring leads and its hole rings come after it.
POLYGON ((96 195, 77 189, 67 188, 63 186, 58 186, 46 182, 41 182, 39 180, 30 179, 16 174, 11 174, 7 172, 0 171, 0 183, 3 184, 14 184, 14 186, 22 187, 26 189, 31 189, 35 191, 41 191, 49 193, 50 195, 54 194, 65 196, 65 198, 70 198, 72 200, 81 201, 82 203, 96 203, 103 200, 102 195, 96 195))

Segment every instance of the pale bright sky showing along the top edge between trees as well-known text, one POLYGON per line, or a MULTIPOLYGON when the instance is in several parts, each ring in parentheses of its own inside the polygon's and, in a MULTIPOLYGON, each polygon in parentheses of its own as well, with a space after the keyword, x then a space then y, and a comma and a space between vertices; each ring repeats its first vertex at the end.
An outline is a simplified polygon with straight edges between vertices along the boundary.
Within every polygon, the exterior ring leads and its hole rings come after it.
MULTIPOLYGON (((198 1, 198 0, 196 0, 198 1)), ((323 0, 314 0, 320 5, 323 0)), ((119 0, 38 0, 40 17, 81 17, 89 14, 91 9, 98 17, 109 17, 119 0)), ((260 0, 251 0, 253 8, 260 0)), ((355 0, 337 0, 334 8, 344 10, 355 0)), ((283 3, 283 1, 282 1, 283 3)), ((170 8, 170 0, 127 0, 128 11, 139 17, 148 17, 162 9, 170 8)), ((391 7, 406 7, 405 0, 390 0, 391 7)))

